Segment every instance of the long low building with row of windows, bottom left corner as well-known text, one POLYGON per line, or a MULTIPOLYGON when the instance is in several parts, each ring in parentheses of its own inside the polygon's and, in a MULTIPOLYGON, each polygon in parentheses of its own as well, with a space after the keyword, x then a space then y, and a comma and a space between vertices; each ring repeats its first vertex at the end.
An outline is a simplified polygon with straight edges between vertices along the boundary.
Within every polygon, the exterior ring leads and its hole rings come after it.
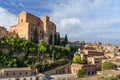
POLYGON ((31 67, 24 68, 3 68, 1 75, 3 78, 26 77, 35 75, 36 69, 31 67))

